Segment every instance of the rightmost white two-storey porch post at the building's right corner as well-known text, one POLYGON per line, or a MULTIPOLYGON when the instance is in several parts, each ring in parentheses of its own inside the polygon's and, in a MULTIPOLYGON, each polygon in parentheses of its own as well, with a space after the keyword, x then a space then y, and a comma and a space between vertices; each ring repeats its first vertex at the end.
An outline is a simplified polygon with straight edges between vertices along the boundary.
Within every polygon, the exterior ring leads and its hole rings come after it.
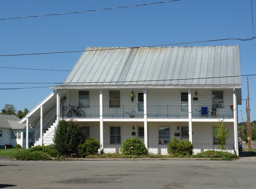
POLYGON ((238 117, 237 117, 237 102, 236 102, 236 89, 233 89, 234 93, 233 93, 233 113, 234 113, 234 145, 235 145, 235 150, 236 150, 236 154, 239 154, 239 148, 238 148, 238 117))

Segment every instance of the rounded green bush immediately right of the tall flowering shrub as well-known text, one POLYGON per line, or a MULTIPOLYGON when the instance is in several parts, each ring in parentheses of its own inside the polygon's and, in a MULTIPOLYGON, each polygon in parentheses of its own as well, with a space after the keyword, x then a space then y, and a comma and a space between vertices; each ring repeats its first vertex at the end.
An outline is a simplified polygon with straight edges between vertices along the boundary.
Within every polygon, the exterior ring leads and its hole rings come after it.
POLYGON ((78 156, 85 158, 85 156, 95 155, 98 153, 98 149, 100 149, 100 142, 96 138, 89 136, 82 144, 78 145, 78 156))

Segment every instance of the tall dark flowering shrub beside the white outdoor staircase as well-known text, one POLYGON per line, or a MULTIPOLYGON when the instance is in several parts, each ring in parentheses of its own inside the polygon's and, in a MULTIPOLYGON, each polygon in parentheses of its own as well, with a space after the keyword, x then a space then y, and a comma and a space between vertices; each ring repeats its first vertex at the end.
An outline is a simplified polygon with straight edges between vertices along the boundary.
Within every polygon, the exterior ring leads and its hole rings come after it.
POLYGON ((81 125, 77 121, 60 120, 53 139, 56 150, 62 155, 76 154, 83 135, 81 125))

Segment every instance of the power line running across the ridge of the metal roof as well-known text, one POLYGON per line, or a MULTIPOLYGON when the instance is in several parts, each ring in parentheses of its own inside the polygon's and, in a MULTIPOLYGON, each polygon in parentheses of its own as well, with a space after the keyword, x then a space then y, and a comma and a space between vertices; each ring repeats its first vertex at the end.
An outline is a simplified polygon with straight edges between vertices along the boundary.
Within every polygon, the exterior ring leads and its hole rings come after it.
MULTIPOLYGON (((129 48, 141 48, 141 47, 161 47, 169 45, 184 45, 184 44, 193 44, 193 43, 204 43, 204 42, 215 42, 215 41, 224 41, 224 40, 241 40, 241 41, 250 41, 256 38, 240 39, 240 38, 226 38, 226 39, 216 39, 216 40, 205 40, 205 41, 196 41, 196 42, 184 42, 184 43, 175 43, 175 44, 162 44, 162 45, 147 45, 147 46, 137 46, 137 47, 114 47, 113 49, 129 49, 129 48)), ((59 53, 79 53, 79 52, 88 52, 88 51, 104 51, 104 50, 113 50, 108 49, 94 49, 94 50, 80 50, 80 51, 61 51, 61 52, 48 52, 48 53, 27 53, 27 54, 12 54, 12 55, 0 55, 0 56, 24 56, 24 55, 47 55, 47 54, 59 54, 59 53)))

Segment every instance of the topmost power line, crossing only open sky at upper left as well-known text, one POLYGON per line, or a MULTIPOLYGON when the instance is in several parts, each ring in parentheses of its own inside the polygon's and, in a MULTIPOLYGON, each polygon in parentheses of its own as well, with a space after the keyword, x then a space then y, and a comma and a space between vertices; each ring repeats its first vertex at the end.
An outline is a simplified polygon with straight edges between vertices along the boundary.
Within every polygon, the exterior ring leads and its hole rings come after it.
POLYGON ((50 15, 24 16, 24 17, 14 17, 14 18, 0 18, 0 20, 11 20, 11 19, 22 19, 22 18, 37 18, 37 17, 44 17, 44 16, 60 16, 60 15, 69 15, 69 14, 75 14, 75 13, 87 13, 87 12, 94 12, 94 11, 106 11, 106 10, 113 10, 113 9, 122 9, 122 8, 139 7, 139 6, 145 6, 145 5, 154 5, 154 4, 160 4, 160 3, 169 3, 169 2, 174 2, 174 1, 180 1, 180 0, 170 0, 170 1, 154 2, 154 3, 148 3, 148 4, 130 5, 130 6, 123 6, 123 7, 105 8, 105 9, 96 9, 96 10, 89 10, 89 11, 76 11, 76 12, 50 14, 50 15))

